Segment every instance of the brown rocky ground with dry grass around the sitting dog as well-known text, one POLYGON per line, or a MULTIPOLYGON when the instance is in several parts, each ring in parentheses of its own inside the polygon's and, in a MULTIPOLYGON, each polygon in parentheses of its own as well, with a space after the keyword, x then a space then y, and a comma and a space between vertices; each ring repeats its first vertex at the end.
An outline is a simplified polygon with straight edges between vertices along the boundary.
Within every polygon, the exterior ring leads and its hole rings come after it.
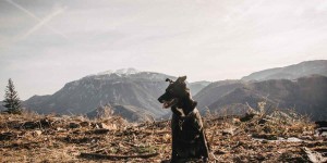
MULTIPOLYGON (((204 117, 210 162, 326 162, 327 138, 275 112, 204 117)), ((168 162, 170 121, 0 114, 0 162, 168 162)), ((195 161, 194 161, 195 162, 195 161)))

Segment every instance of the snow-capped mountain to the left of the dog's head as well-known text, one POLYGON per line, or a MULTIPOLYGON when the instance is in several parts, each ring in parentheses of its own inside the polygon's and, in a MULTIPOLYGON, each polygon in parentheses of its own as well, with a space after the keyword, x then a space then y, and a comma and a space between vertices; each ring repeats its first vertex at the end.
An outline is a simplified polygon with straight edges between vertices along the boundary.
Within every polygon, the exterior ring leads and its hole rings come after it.
POLYGON ((167 113, 157 102, 168 86, 166 78, 174 77, 133 68, 104 72, 68 83, 51 96, 34 96, 24 105, 45 114, 84 114, 105 104, 132 105, 159 117, 167 113))

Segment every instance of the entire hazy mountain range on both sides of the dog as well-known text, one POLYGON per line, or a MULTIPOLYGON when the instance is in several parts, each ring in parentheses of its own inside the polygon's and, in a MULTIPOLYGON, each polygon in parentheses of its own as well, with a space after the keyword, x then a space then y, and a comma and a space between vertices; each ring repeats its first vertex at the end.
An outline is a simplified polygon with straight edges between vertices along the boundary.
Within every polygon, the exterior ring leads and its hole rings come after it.
MULTIPOLYGON (((187 83, 187 87, 202 112, 242 113, 247 104, 257 108, 265 100, 274 108, 294 108, 322 120, 327 114, 326 72, 327 61, 317 60, 256 72, 237 80, 187 83)), ((157 102, 168 86, 166 78, 175 79, 134 68, 107 71, 70 82, 53 95, 34 96, 23 105, 44 114, 86 114, 110 104, 114 114, 130 121, 160 118, 169 113, 157 102)))

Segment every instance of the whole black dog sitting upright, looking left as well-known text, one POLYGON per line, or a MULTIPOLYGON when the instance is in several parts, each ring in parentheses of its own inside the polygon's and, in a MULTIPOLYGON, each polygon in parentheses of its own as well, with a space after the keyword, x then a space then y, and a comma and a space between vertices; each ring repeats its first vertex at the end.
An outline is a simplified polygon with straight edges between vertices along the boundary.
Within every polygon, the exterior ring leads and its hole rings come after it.
POLYGON ((171 108, 172 151, 171 162, 190 158, 208 160, 208 146, 203 129, 201 115, 192 100, 190 89, 185 84, 186 76, 175 82, 167 78, 169 86, 158 101, 164 108, 171 108))

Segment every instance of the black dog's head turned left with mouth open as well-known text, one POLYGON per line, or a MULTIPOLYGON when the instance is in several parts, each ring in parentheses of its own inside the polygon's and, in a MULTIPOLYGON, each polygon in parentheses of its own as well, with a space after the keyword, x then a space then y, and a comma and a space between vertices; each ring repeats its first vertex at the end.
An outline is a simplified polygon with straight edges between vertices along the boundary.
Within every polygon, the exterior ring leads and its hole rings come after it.
POLYGON ((175 105, 179 100, 190 97, 190 89, 186 88, 186 76, 179 77, 175 82, 167 78, 166 82, 169 82, 169 86, 166 89, 166 92, 159 97, 158 101, 164 103, 164 108, 170 108, 175 105))

